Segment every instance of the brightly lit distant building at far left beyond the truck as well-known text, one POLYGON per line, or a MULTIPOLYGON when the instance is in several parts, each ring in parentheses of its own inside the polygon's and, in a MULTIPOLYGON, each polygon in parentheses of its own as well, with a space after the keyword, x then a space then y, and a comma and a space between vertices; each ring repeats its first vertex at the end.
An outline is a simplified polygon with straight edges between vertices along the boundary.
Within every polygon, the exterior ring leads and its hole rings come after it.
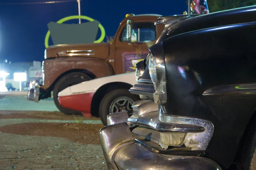
POLYGON ((26 72, 27 81, 22 82, 22 88, 29 87, 30 81, 36 81, 38 84, 43 81, 42 67, 40 61, 33 62, 15 62, 15 63, 4 63, 4 71, 9 73, 6 77, 6 84, 12 84, 12 87, 19 89, 19 82, 14 81, 13 74, 15 72, 26 72))

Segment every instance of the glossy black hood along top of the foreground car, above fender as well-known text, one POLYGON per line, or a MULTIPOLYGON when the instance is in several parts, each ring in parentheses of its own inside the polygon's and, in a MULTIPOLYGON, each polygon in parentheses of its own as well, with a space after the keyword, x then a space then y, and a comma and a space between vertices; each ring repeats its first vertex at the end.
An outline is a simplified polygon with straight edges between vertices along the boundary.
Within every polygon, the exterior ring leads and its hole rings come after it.
POLYGON ((186 20, 174 23, 164 29, 163 33, 157 40, 157 43, 182 34, 184 32, 195 31, 198 29, 211 28, 214 26, 224 26, 236 23, 247 23, 255 21, 256 6, 230 9, 227 11, 214 12, 210 14, 191 17, 186 20))

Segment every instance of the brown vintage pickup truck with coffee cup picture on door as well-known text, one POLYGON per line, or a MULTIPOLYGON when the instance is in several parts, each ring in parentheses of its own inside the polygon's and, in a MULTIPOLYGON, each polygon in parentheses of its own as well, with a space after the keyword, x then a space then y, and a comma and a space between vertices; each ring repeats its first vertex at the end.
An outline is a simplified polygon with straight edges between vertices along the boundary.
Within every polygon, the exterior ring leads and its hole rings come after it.
POLYGON ((78 112, 61 107, 58 92, 74 84, 126 72, 134 72, 135 64, 148 55, 164 25, 154 25, 158 14, 126 14, 112 43, 63 44, 49 46, 42 63, 43 85, 28 93, 28 100, 38 102, 51 97, 64 114, 78 112))

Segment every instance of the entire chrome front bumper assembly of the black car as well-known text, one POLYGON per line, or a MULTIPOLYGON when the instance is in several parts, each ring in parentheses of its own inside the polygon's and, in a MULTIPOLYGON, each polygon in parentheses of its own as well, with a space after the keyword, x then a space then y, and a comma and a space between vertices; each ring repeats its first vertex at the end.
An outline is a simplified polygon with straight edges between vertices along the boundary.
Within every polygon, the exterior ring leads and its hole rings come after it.
POLYGON ((213 134, 211 122, 157 110, 154 101, 141 100, 134 102, 130 118, 127 112, 108 116, 100 141, 109 169, 221 170, 216 162, 201 157, 213 134))

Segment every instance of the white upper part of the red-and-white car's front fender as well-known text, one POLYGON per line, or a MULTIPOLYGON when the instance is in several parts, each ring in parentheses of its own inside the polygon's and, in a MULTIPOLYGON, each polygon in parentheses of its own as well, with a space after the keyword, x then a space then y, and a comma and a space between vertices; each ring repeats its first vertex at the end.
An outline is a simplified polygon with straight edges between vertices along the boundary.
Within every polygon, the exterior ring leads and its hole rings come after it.
POLYGON ((66 89, 59 92, 58 96, 60 97, 60 96, 96 92, 97 89, 99 89, 101 86, 108 83, 114 83, 114 82, 127 83, 133 86, 134 84, 136 84, 135 72, 123 73, 119 75, 111 75, 108 77, 96 78, 90 81, 84 81, 82 83, 67 87, 66 89))

